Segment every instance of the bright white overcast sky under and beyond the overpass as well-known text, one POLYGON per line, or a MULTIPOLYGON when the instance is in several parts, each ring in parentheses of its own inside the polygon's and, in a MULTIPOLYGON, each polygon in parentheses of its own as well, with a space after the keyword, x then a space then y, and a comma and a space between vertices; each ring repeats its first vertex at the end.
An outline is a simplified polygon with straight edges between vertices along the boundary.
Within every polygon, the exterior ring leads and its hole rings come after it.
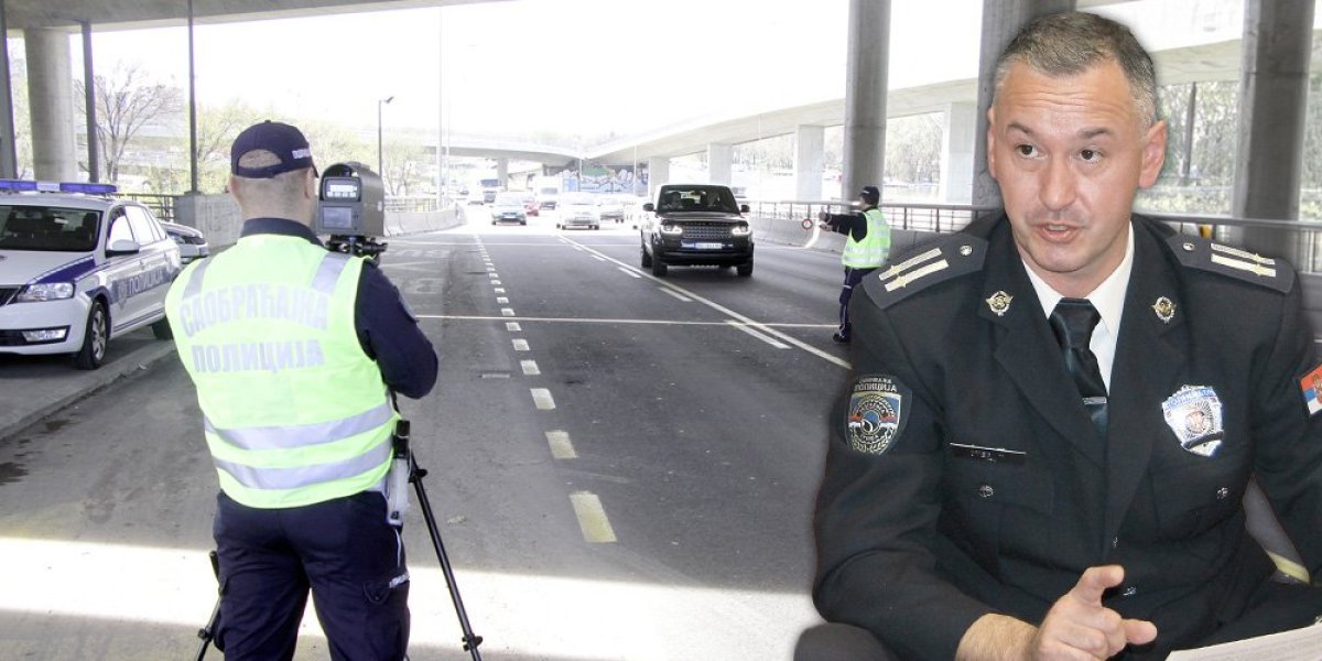
MULTIPOLYGON (((896 0, 892 86, 973 77, 982 0, 896 0), (920 71, 921 70, 921 71, 920 71)), ((847 0, 514 0, 196 28, 201 103, 456 134, 632 135, 845 94, 847 0), (442 91, 444 94, 442 94, 442 91), (444 98, 444 102, 438 99, 444 98)), ((81 44, 74 40, 74 66, 81 44)), ((182 28, 98 32, 98 73, 186 85, 182 28)), ((81 74, 75 74, 81 77, 81 74)))

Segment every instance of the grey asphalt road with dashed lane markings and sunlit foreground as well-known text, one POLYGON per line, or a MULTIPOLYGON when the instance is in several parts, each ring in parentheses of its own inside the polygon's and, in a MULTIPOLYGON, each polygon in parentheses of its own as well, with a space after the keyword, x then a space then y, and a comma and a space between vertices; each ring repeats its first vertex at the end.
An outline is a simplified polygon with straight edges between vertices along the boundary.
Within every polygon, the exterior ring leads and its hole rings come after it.
MULTIPOLYGON (((639 267, 627 225, 390 242, 442 356, 403 401, 485 658, 779 660, 816 621, 809 518, 847 352, 838 255, 639 267)), ((0 658, 192 658, 215 476, 177 360, 0 442, 0 658)), ((414 660, 467 658, 420 512, 414 660)), ((315 617, 300 660, 327 658, 315 617)), ((218 656, 212 652, 209 658, 218 656)))

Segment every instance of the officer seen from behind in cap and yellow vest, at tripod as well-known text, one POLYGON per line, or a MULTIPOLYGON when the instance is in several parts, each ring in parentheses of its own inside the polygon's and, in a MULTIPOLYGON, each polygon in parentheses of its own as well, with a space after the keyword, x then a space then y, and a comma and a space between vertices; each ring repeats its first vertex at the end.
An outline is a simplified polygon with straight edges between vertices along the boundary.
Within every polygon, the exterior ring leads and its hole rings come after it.
POLYGON ((230 169, 242 237, 167 299, 221 483, 217 646, 230 661, 292 658, 311 587, 332 658, 405 658, 408 570, 383 496, 390 391, 426 395, 436 354, 381 271, 312 233, 316 169, 297 128, 249 127, 230 169))

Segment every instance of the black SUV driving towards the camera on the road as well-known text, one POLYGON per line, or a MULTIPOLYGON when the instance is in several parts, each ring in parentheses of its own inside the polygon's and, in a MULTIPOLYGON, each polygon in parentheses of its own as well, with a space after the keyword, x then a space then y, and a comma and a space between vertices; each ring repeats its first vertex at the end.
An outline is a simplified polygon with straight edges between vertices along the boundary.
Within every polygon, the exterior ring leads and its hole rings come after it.
POLYGON ((666 184, 657 202, 642 205, 652 218, 641 227, 642 268, 665 276, 668 266, 735 267, 752 275, 752 227, 730 186, 666 184))

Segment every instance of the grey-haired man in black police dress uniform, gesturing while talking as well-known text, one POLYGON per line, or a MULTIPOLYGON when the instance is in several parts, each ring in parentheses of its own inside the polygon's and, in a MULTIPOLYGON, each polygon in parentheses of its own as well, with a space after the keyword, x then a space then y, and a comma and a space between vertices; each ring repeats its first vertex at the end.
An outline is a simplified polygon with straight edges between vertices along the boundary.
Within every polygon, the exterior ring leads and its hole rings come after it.
POLYGON ((798 658, 850 639, 851 658, 1165 658, 1322 615, 1322 590, 1269 579, 1241 505, 1256 476, 1322 572, 1300 283, 1130 213, 1162 167, 1155 107, 1113 21, 1048 16, 1002 54, 1005 214, 854 301, 816 516, 814 599, 842 624, 798 658))

